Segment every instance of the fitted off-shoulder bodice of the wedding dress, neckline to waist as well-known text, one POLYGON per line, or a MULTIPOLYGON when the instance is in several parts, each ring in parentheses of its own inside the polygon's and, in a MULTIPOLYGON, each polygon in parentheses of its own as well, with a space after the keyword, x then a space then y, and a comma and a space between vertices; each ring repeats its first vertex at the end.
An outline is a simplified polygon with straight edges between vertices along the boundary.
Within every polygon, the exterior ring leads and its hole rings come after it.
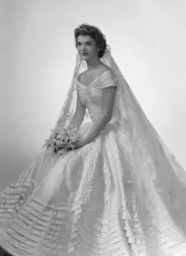
POLYGON ((77 80, 79 98, 81 103, 86 106, 93 122, 102 113, 102 88, 108 86, 117 86, 116 78, 113 77, 113 73, 110 70, 96 77, 89 86, 85 86, 77 80))

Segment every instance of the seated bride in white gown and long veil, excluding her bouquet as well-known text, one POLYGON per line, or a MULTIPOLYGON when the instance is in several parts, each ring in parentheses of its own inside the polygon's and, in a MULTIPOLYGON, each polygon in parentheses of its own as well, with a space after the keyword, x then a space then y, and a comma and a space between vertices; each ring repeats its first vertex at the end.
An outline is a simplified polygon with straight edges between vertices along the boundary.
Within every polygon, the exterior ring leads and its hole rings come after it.
POLYGON ((186 172, 102 32, 74 34, 72 86, 49 138, 78 127, 78 139, 62 155, 44 149, 0 193, 1 255, 185 256, 186 172))

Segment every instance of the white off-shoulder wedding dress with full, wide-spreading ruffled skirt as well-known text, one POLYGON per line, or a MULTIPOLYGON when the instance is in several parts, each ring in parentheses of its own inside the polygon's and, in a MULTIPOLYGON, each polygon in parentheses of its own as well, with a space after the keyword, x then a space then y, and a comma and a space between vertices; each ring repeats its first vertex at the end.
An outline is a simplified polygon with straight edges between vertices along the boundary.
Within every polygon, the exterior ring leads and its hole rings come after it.
MULTIPOLYGON (((101 114, 102 88, 117 82, 106 71, 76 86, 91 118, 84 135, 101 114)), ((1 247, 15 256, 185 256, 186 173, 162 141, 158 156, 139 148, 113 115, 90 144, 40 152, 0 193, 1 247)))

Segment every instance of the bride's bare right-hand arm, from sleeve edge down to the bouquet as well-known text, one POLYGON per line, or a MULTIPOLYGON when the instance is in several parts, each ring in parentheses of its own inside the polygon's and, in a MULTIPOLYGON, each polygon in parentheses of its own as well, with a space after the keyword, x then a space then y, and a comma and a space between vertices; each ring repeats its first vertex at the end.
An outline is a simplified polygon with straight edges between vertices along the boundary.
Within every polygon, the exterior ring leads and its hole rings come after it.
POLYGON ((110 121, 113 113, 115 90, 116 86, 109 86, 102 89, 102 115, 92 125, 92 128, 90 129, 89 133, 86 134, 85 138, 78 141, 78 146, 84 146, 90 143, 90 141, 100 134, 102 129, 104 129, 110 121))

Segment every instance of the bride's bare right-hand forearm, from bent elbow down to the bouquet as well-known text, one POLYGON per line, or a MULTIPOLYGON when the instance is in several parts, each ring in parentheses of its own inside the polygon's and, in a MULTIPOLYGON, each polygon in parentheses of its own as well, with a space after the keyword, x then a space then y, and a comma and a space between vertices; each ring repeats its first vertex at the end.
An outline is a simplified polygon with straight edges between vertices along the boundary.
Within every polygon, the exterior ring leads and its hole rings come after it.
POLYGON ((98 134, 102 132, 102 130, 107 126, 108 122, 111 119, 111 115, 102 114, 96 122, 92 125, 89 133, 86 134, 83 138, 83 145, 90 143, 91 140, 94 140, 98 134))

